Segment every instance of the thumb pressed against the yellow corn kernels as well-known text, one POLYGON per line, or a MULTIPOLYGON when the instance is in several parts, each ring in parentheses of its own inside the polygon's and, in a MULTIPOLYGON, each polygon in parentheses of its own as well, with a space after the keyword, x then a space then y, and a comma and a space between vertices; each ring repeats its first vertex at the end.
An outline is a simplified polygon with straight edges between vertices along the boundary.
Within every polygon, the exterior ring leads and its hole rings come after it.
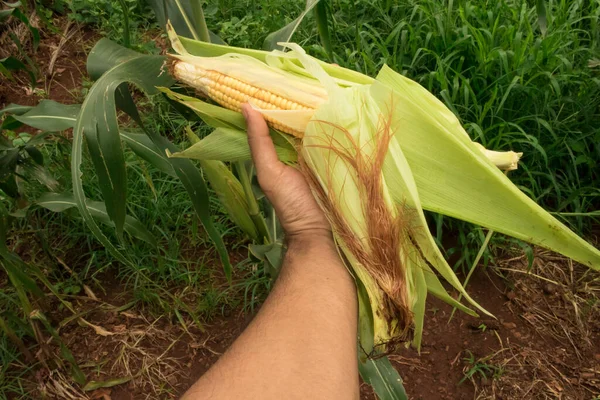
POLYGON ((259 177, 268 179, 278 171, 282 164, 277 158, 275 145, 269 135, 269 127, 262 114, 253 109, 249 104, 242 106, 242 113, 246 118, 248 129, 248 144, 252 153, 252 160, 256 166, 259 177))

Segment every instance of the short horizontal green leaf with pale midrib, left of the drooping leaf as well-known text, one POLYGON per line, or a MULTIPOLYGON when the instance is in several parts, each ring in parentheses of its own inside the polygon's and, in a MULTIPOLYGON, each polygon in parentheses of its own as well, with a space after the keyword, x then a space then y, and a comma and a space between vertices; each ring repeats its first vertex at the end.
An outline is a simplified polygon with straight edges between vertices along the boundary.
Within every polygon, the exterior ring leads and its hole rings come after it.
MULTIPOLYGON (((20 111, 18 108, 15 110, 20 111)), ((54 100, 42 100, 36 107, 14 118, 42 131, 64 131, 75 126, 80 110, 78 104, 65 105, 54 100)))

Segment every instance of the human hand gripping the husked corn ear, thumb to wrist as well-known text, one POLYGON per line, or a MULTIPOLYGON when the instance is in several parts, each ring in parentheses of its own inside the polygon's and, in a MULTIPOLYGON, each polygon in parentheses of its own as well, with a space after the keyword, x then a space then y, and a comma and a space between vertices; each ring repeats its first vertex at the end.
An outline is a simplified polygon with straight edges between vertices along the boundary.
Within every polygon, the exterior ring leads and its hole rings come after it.
POLYGON ((297 169, 277 158, 275 145, 263 116, 249 104, 242 106, 248 126, 248 143, 258 183, 275 208, 287 240, 331 239, 331 227, 297 169))

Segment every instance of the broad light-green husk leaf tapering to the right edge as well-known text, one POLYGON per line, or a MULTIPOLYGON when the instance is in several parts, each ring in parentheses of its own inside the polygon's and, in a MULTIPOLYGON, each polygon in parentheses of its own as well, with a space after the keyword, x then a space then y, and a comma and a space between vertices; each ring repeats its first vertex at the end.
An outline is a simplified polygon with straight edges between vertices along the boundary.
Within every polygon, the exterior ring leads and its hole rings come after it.
MULTIPOLYGON (((407 79, 390 68, 384 67, 377 79, 381 86, 393 89, 391 98, 381 91, 378 101, 391 100, 395 123, 410 127, 399 129, 396 137, 414 175, 423 208, 514 236, 600 269, 600 251, 521 192, 465 138, 459 131, 462 128, 456 128, 460 127, 456 117, 445 123, 432 117, 443 107, 441 103, 429 102, 427 98, 416 102, 405 90, 407 79)), ((440 111, 449 115, 446 110, 440 111)))

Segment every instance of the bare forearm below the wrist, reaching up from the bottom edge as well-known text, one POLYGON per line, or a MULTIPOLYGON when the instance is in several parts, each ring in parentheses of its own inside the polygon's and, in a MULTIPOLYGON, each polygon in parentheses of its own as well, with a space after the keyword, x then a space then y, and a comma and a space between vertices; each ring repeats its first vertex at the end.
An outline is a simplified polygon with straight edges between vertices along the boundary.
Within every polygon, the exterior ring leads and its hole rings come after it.
POLYGON ((358 398, 356 325, 355 285, 331 239, 293 239, 258 315, 184 398, 358 398))

